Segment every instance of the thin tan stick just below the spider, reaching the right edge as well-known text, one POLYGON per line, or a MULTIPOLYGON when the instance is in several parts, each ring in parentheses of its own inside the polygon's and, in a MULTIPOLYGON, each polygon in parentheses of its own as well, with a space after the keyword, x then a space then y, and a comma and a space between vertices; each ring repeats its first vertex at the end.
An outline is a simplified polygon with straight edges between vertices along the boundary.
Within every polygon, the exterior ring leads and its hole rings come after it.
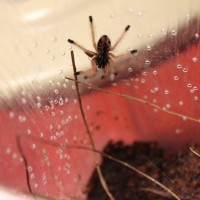
POLYGON ((154 103, 151 103, 149 101, 146 101, 146 100, 143 100, 143 99, 140 99, 140 98, 137 98, 137 97, 134 97, 134 96, 130 96, 130 95, 126 95, 126 94, 122 94, 122 93, 116 93, 116 92, 111 92, 109 90, 104 90, 102 88, 99 88, 99 87, 96 87, 94 85, 89 85, 89 84, 86 84, 86 83, 83 83, 83 82, 80 82, 80 81, 77 81, 77 80, 74 80, 72 78, 68 78, 68 77, 65 77, 66 79, 68 80, 71 80, 71 81, 74 81, 74 82, 77 82, 77 83, 80 83, 84 86, 87 86, 87 87, 90 87, 94 90, 98 90, 100 92, 104 92, 104 93, 107 93, 107 94, 112 94, 112 95, 115 95, 115 96, 121 96, 121 97, 124 97, 126 99, 130 99, 130 100, 133 100, 133 101, 137 101, 137 102, 140 102, 140 103, 143 103, 143 104, 146 104, 146 105, 149 105, 153 108, 156 108, 158 110, 161 110, 163 112, 166 112, 170 115, 174 115, 174 116, 177 116, 177 117, 180 117, 180 118, 185 118, 187 120, 190 120, 190 121, 193 121, 193 122, 197 122, 197 123, 200 123, 200 119, 197 119, 197 118, 194 118, 194 117, 191 117, 191 116, 187 116, 187 115, 183 115, 183 114, 180 114, 180 113, 177 113, 177 112, 174 112, 174 111, 171 111, 171 110, 167 110, 163 107, 160 107, 154 103))

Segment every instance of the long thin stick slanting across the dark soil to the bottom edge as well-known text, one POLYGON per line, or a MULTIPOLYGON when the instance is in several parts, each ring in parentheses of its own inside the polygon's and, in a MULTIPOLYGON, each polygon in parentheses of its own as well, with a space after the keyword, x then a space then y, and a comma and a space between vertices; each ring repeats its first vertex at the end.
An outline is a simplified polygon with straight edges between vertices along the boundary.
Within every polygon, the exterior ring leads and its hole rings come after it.
POLYGON ((164 189, 165 191, 167 191, 169 194, 171 194, 175 199, 177 200, 181 200, 172 190, 170 190, 169 188, 167 188, 165 185, 163 185, 162 183, 160 183, 159 181, 157 181, 156 179, 152 178, 151 176, 149 176, 148 174, 145 174, 144 172, 138 170, 137 168, 131 166, 130 164, 124 162, 124 161, 121 161, 117 158, 114 158, 113 156, 110 156, 106 153, 103 153, 97 149, 94 149, 94 148, 89 148, 89 147, 86 147, 86 146, 78 146, 78 145, 68 145, 68 144, 60 144, 58 142, 53 142, 53 141, 48 141, 48 140, 45 140, 45 139, 42 139, 42 138, 37 138, 37 137, 34 137, 32 135, 21 135, 22 137, 25 137, 25 138, 30 138, 31 140, 33 141, 36 141, 36 142, 40 142, 42 144, 45 144, 45 145, 50 145, 50 146, 53 146, 53 147, 59 147, 59 148, 64 148, 64 149, 81 149, 81 150, 86 150, 86 151, 93 151, 95 153, 98 153, 100 154, 101 156, 105 157, 105 158, 108 158, 109 160, 112 160, 116 163, 119 163, 120 165, 128 168, 128 169, 131 169, 132 171, 136 172, 137 174, 145 177, 146 179, 150 180, 151 182, 155 183, 156 185, 158 185, 159 187, 161 187, 162 189, 164 189))

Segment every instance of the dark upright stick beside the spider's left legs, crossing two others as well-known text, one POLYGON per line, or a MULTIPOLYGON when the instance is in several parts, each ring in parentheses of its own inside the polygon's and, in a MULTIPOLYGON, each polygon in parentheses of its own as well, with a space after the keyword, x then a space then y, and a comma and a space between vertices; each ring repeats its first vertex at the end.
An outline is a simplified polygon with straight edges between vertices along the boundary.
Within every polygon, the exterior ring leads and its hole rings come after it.
MULTIPOLYGON (((80 92, 79 92, 78 79, 77 79, 77 75, 76 75, 76 65, 75 65, 75 59, 74 59, 74 52, 73 51, 71 51, 71 59, 72 59, 72 66, 73 66, 74 78, 75 78, 75 86, 76 86, 76 91, 77 91, 77 96, 78 96, 78 102, 79 102, 81 115, 82 115, 83 122, 84 122, 84 125, 85 125, 85 128, 86 128, 86 132, 87 132, 88 137, 90 139, 90 143, 92 145, 92 149, 95 151, 95 149, 96 149, 95 148, 95 144, 94 144, 94 141, 93 141, 92 135, 90 133, 90 130, 89 130, 89 127, 88 127, 88 124, 87 124, 87 120, 85 118, 85 114, 84 114, 84 111, 83 111, 83 105, 82 105, 81 96, 80 96, 80 92)), ((101 168, 99 166, 96 154, 94 154, 94 156, 95 156, 95 162, 96 162, 96 170, 97 170, 101 185, 102 185, 103 189, 105 190, 106 194, 109 196, 110 200, 115 200, 113 195, 110 193, 110 191, 108 189, 108 186, 106 184, 106 181, 105 181, 105 179, 103 177, 103 174, 102 174, 101 168)))

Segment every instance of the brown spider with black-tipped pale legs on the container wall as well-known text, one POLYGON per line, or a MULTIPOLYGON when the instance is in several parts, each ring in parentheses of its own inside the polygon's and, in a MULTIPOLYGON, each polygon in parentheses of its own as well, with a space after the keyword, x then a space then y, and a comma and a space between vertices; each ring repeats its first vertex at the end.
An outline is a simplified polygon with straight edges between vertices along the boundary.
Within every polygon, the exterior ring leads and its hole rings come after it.
MULTIPOLYGON (((92 16, 89 16, 89 22, 90 22, 90 29, 91 29, 91 33, 92 33, 93 47, 96 52, 85 49, 83 46, 81 46, 74 40, 68 39, 69 43, 77 46, 78 48, 83 50, 84 53, 88 57, 92 58, 92 60, 91 60, 92 69, 89 69, 86 71, 78 71, 75 73, 75 75, 84 74, 85 79, 91 78, 96 75, 98 68, 103 70, 104 75, 101 77, 102 79, 105 78, 108 74, 117 75, 116 67, 113 63, 112 58, 121 57, 121 56, 124 56, 125 54, 116 56, 111 52, 116 49, 117 45, 124 38, 126 32, 130 29, 130 25, 127 25, 125 27, 125 29, 124 29, 123 33, 121 34, 121 36, 119 37, 119 39, 115 42, 115 44, 113 46, 111 46, 111 41, 107 35, 101 36, 98 43, 96 44, 92 16)), ((130 51, 131 54, 134 54, 136 52, 137 52, 137 50, 130 51)))

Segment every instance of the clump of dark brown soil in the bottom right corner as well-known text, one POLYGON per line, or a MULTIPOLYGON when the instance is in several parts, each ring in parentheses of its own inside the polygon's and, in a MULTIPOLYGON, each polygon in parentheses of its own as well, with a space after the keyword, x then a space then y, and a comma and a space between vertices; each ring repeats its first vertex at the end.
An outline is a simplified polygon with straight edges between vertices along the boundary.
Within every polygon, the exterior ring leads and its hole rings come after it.
MULTIPOLYGON (((156 143, 109 143, 104 153, 125 161, 155 178, 182 200, 200 200, 200 157, 189 148, 179 152, 164 151, 156 143)), ((116 200, 175 199, 167 191, 136 172, 107 158, 101 169, 116 200)), ((108 200, 96 171, 88 184, 88 200, 108 200)))

